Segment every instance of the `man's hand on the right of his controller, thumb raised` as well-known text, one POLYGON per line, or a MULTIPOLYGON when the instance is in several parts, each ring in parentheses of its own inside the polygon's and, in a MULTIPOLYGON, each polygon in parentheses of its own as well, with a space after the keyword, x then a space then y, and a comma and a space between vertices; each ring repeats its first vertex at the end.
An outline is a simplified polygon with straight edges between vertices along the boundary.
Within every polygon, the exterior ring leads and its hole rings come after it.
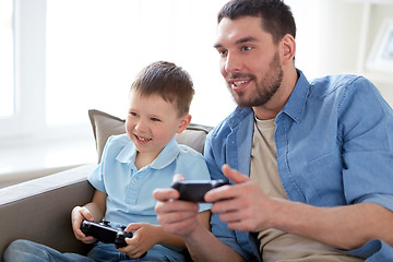
POLYGON ((236 182, 206 193, 205 200, 214 203, 213 213, 234 230, 260 231, 272 226, 277 200, 267 196, 251 179, 228 165, 223 166, 224 175, 236 182))

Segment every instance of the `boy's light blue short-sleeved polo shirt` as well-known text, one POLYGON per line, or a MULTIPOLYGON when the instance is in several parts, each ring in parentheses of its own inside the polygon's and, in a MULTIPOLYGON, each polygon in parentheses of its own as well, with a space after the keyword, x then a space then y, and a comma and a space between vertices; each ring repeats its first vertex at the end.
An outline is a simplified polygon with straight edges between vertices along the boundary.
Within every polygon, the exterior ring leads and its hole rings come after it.
MULTIPOLYGON (((210 180, 203 156, 179 145, 175 138, 152 164, 140 170, 134 165, 135 156, 135 146, 127 134, 110 136, 99 166, 88 177, 94 188, 108 194, 104 219, 111 226, 142 222, 158 225, 153 191, 169 188, 176 174, 183 175, 187 180, 210 180)), ((200 211, 210 206, 201 204, 200 211)))

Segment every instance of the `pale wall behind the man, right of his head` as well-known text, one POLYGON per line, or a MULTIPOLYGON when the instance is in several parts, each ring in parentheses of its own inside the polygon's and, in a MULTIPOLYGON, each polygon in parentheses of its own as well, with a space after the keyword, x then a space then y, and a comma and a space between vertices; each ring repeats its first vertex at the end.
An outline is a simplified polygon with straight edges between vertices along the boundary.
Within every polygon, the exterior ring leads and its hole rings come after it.
POLYGON ((383 19, 393 17, 393 1, 286 2, 294 7, 298 27, 296 66, 307 78, 337 73, 365 75, 393 107, 393 68, 384 72, 367 68, 383 19))

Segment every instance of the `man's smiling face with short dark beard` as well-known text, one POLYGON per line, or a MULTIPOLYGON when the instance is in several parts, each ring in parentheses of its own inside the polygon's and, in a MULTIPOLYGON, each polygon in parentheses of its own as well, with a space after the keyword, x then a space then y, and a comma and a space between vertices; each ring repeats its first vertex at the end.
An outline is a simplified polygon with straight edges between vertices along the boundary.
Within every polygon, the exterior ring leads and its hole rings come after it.
POLYGON ((272 100, 283 70, 277 45, 262 29, 260 17, 223 19, 215 48, 221 55, 221 73, 239 106, 258 107, 272 100))

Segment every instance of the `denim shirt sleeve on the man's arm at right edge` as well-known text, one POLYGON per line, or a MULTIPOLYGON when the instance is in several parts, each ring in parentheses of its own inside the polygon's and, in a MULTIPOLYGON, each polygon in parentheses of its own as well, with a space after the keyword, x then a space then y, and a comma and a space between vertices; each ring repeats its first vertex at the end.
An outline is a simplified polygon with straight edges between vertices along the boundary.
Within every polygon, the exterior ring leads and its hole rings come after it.
POLYGON ((343 182, 348 204, 369 202, 393 211, 393 111, 364 78, 347 88, 340 108, 343 182))

